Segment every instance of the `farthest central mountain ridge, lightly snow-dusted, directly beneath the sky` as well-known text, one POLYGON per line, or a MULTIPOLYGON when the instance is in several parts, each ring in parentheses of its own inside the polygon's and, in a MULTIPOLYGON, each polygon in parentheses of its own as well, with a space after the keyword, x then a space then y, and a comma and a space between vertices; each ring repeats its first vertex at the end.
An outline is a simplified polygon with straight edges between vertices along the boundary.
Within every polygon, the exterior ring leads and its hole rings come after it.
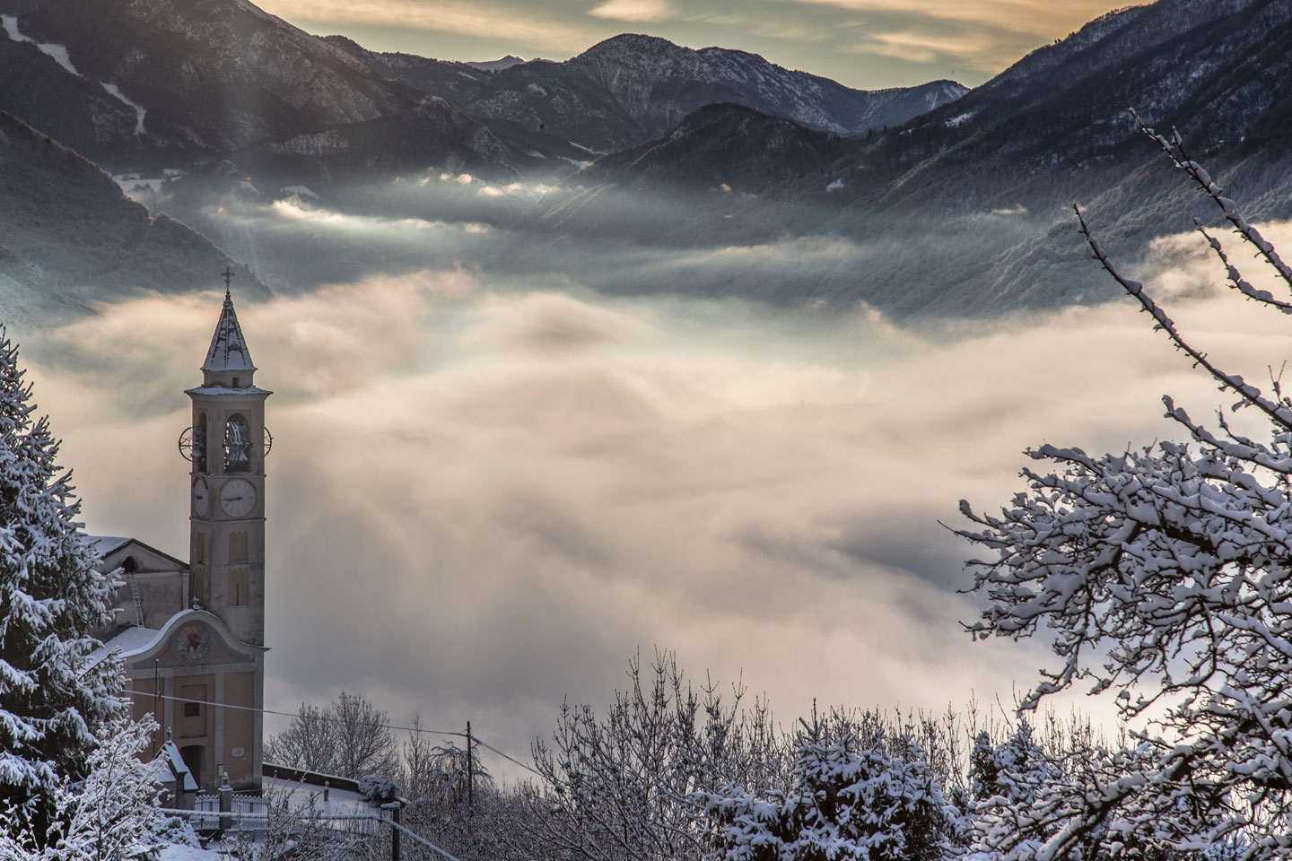
POLYGON ((488 120, 519 121, 599 152, 642 143, 704 105, 733 102, 837 134, 899 125, 966 88, 930 81, 855 90, 729 48, 699 50, 659 36, 620 34, 563 61, 528 61, 496 71, 465 63, 370 52, 345 36, 324 39, 370 70, 488 120))

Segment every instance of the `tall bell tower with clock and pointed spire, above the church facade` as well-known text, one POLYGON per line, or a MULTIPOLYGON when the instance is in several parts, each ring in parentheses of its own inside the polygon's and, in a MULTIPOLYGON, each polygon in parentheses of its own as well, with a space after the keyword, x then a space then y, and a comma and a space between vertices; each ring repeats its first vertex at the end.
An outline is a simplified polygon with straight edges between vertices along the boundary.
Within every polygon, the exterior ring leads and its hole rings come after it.
POLYGON ((224 620, 243 643, 265 645, 265 399, 243 338, 225 275, 225 305, 202 385, 193 399, 193 426, 180 439, 191 462, 187 604, 224 620))

